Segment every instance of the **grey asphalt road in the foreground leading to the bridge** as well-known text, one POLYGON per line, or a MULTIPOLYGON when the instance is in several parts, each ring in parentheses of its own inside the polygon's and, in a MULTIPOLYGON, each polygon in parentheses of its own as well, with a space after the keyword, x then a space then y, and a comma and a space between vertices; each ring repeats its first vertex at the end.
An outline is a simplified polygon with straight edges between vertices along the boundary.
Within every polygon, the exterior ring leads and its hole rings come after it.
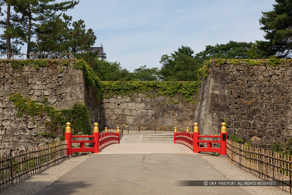
POLYGON ((248 194, 239 187, 185 187, 227 180, 198 154, 94 154, 37 194, 248 194))

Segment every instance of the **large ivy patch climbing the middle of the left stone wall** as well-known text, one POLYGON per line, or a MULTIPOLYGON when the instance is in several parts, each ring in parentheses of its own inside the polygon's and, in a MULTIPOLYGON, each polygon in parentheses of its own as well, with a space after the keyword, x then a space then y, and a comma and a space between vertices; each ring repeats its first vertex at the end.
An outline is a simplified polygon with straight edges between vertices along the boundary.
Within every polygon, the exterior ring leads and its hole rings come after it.
POLYGON ((72 124, 73 135, 76 135, 79 132, 86 135, 91 134, 89 111, 82 103, 75 103, 73 107, 69 109, 57 109, 53 106, 49 106, 47 98, 44 98, 41 104, 36 100, 31 100, 29 97, 24 97, 18 93, 9 95, 9 100, 14 103, 15 108, 18 108, 19 117, 22 117, 23 113, 30 115, 31 117, 49 117, 50 120, 46 121, 45 127, 50 132, 41 133, 43 136, 55 137, 57 128, 60 127, 62 127, 64 134, 66 122, 72 124))

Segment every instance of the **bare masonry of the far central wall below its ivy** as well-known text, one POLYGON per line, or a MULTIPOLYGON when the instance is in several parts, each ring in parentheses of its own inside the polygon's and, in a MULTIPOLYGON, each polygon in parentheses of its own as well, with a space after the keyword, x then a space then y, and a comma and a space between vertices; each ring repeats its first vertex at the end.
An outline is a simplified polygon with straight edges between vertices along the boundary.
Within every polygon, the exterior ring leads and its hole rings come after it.
POLYGON ((176 99, 180 103, 166 104, 168 98, 145 97, 135 94, 130 96, 102 99, 102 108, 107 128, 117 126, 126 130, 160 130, 172 131, 174 126, 178 130, 192 128, 194 121, 195 104, 176 99))

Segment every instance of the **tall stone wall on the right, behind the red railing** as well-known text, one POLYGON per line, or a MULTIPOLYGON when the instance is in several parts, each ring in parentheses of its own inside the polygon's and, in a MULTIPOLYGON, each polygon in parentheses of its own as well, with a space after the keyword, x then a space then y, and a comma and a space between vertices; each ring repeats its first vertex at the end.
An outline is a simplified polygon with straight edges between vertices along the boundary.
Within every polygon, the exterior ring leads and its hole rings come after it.
POLYGON ((199 88, 195 120, 202 134, 234 133, 266 147, 291 136, 292 66, 211 64, 199 88))

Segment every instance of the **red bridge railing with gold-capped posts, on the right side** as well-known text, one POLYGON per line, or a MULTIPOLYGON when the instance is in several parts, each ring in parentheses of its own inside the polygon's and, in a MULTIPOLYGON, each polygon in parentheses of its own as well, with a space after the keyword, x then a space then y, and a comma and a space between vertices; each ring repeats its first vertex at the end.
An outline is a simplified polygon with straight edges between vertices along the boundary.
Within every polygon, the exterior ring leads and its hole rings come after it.
POLYGON ((194 123, 193 133, 177 132, 174 128, 174 143, 184 144, 193 150, 194 153, 200 152, 218 152, 221 155, 226 155, 226 123, 223 122, 220 135, 199 135, 198 123, 194 123), (220 141, 216 140, 200 140, 199 138, 220 138, 220 141), (207 143, 207 147, 200 147, 200 143, 207 143), (220 143, 220 148, 212 147, 212 143, 220 143))

